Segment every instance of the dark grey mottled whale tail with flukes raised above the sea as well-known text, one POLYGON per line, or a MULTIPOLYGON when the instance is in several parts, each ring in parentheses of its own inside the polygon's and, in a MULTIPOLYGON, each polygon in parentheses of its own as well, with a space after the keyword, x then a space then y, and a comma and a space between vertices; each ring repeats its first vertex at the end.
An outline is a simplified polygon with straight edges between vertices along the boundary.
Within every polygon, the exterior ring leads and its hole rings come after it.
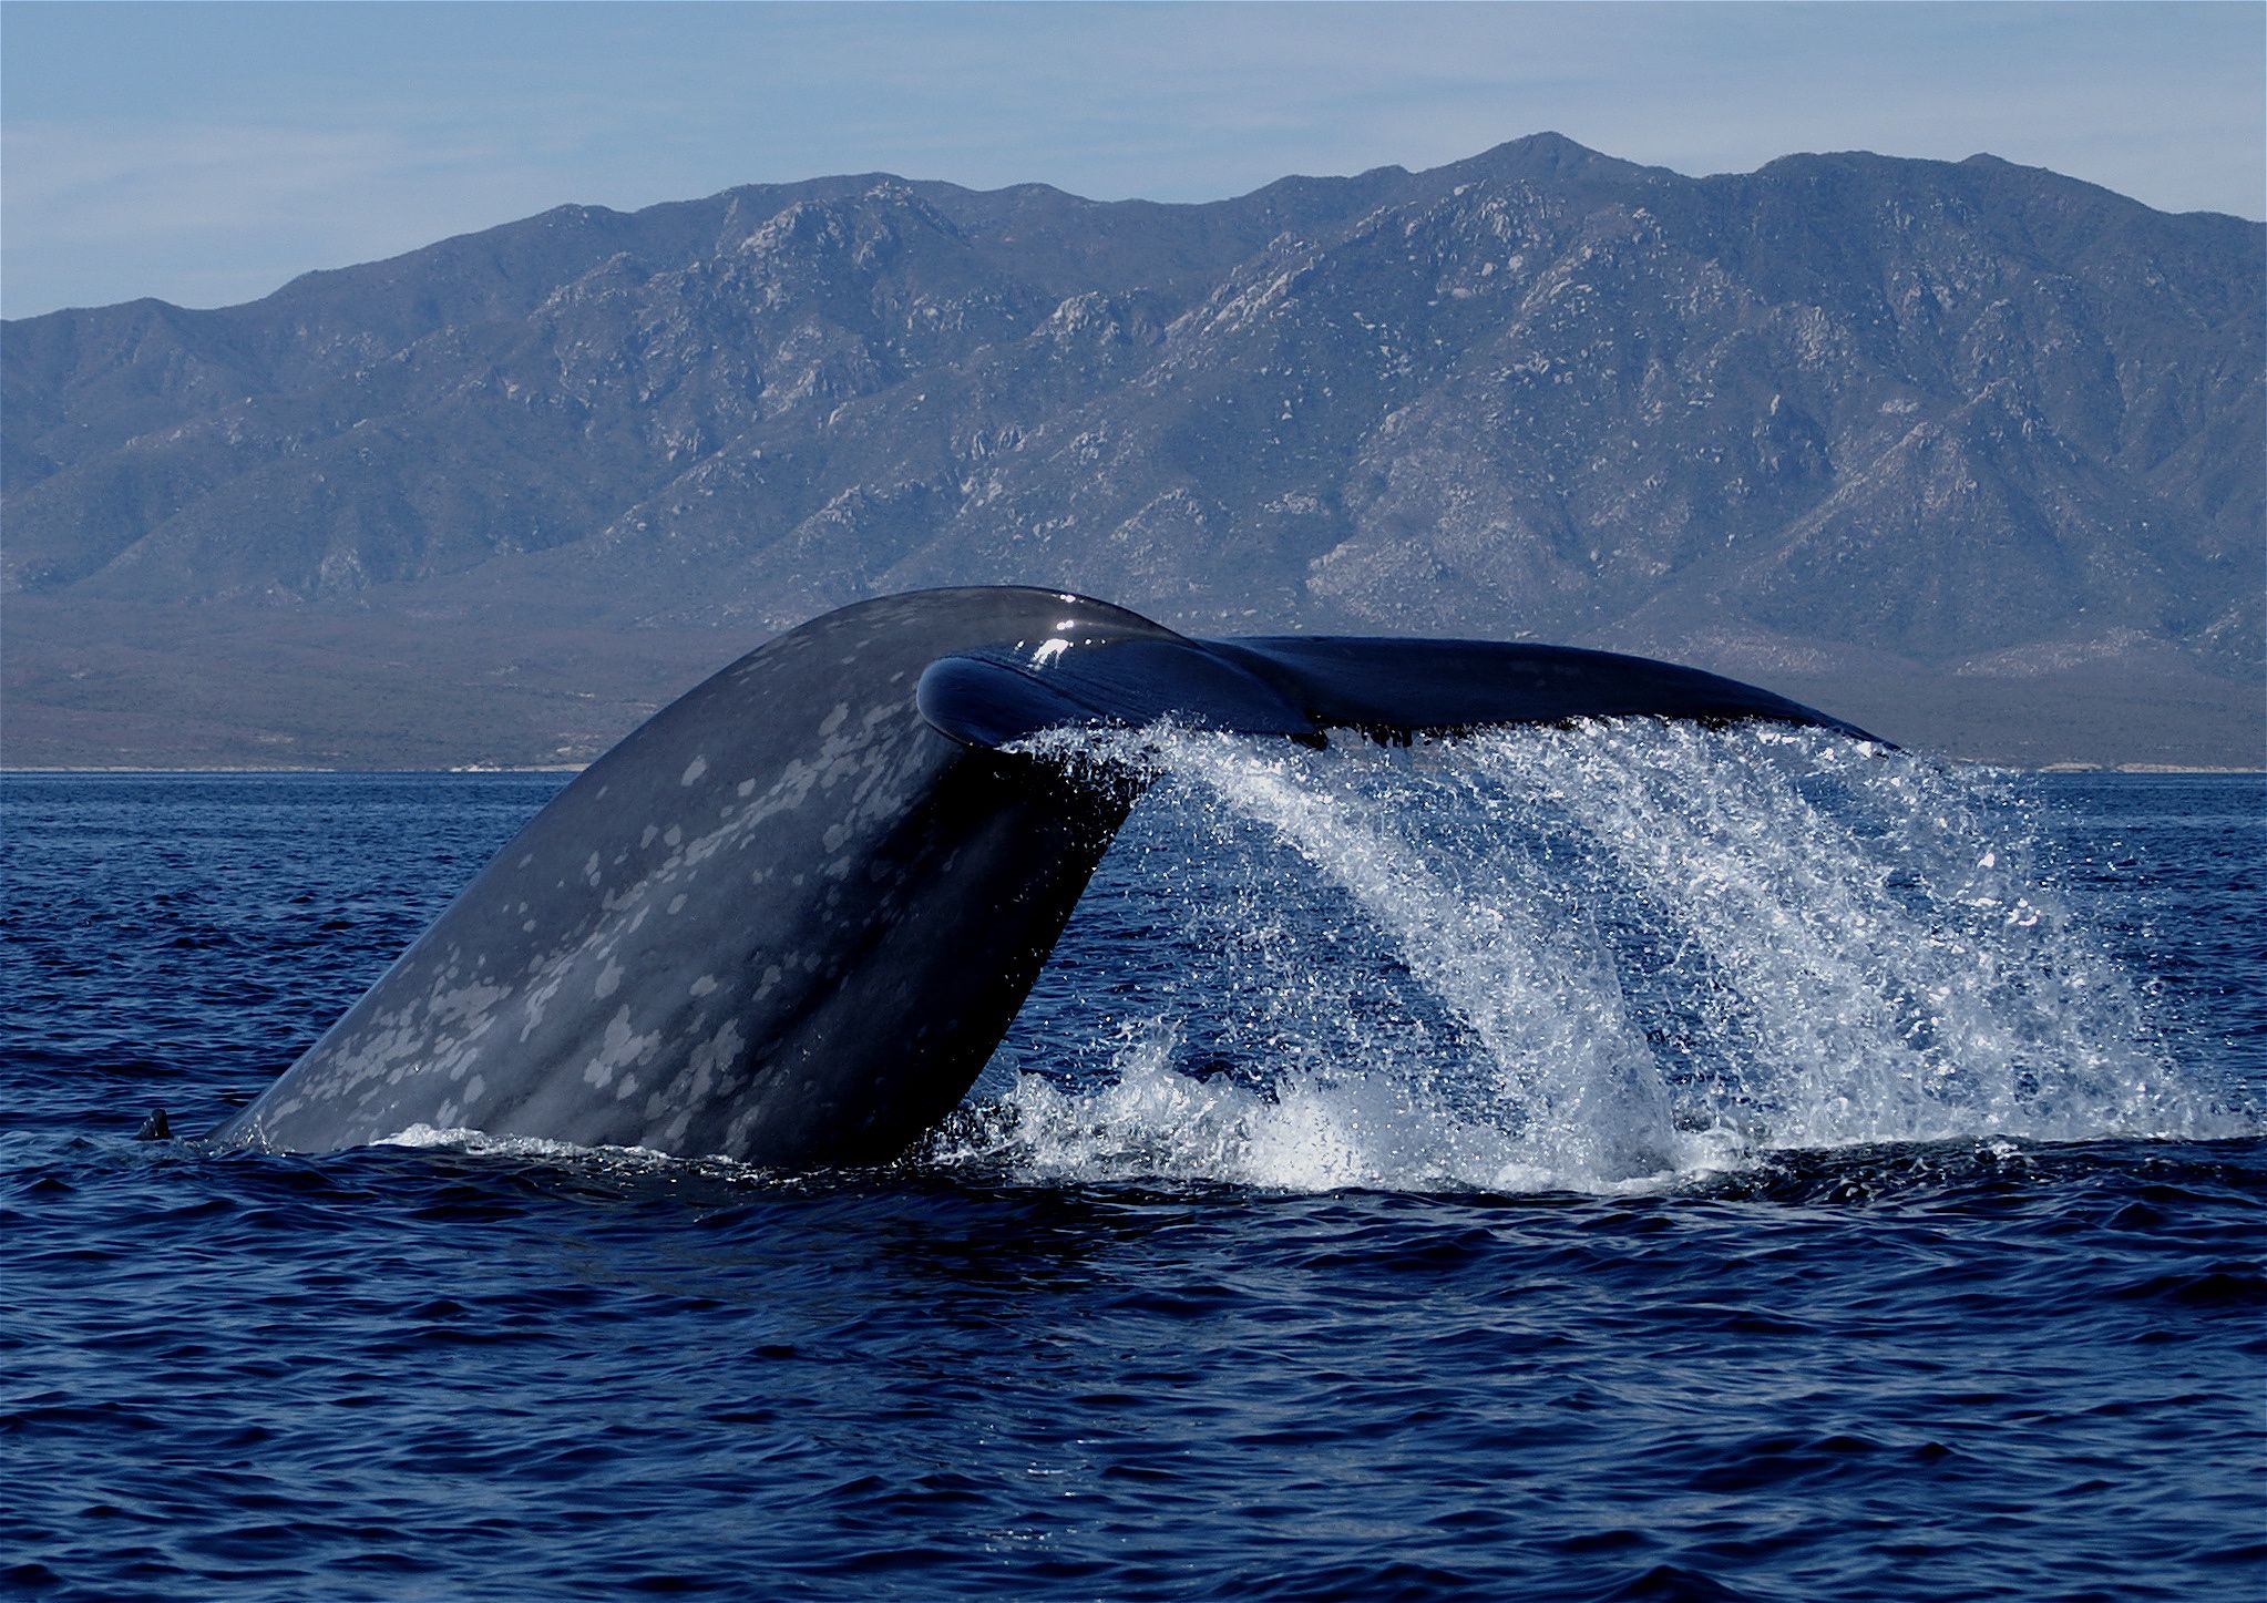
POLYGON ((886 1163, 975 1084, 1138 798, 1031 737, 1172 721, 1406 744, 1621 716, 1875 739, 1576 646, 1195 639, 1027 587, 861 601, 598 757, 209 1140, 340 1152, 428 1127, 886 1163))

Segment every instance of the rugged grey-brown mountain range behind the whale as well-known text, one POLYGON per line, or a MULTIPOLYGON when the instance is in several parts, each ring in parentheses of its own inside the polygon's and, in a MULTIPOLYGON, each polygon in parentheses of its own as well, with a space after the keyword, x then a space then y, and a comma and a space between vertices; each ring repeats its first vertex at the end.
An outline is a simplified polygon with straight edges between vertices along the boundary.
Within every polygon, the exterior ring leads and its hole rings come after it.
POLYGON ((583 760, 941 583, 1601 644, 2002 760, 2260 762, 2267 229, 1523 138, 1202 206, 564 206, 5 326, 11 764, 583 760))

